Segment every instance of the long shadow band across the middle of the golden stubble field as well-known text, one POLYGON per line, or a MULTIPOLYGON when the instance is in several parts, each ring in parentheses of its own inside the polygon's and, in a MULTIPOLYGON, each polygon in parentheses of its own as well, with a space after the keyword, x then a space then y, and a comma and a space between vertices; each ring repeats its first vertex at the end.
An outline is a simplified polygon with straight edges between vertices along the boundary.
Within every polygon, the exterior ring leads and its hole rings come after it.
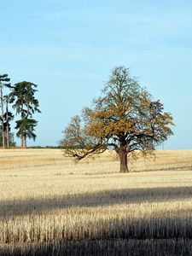
POLYGON ((72 207, 105 207, 192 199, 192 187, 114 189, 73 195, 0 201, 0 220, 72 207))

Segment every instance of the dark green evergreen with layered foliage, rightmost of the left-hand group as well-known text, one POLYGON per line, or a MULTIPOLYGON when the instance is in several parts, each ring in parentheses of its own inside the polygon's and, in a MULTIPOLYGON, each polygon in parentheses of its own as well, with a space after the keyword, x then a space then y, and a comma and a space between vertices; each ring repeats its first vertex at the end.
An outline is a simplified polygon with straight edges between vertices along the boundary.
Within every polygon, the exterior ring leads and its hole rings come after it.
POLYGON ((26 148, 27 137, 33 140, 36 139, 34 131, 38 121, 32 119, 32 115, 36 112, 41 113, 38 109, 38 100, 35 98, 35 92, 38 91, 36 90, 37 87, 37 84, 23 81, 15 84, 10 93, 12 102, 14 102, 13 108, 15 108, 17 114, 20 114, 20 119, 16 121, 15 129, 18 130, 16 136, 20 137, 22 148, 26 148))

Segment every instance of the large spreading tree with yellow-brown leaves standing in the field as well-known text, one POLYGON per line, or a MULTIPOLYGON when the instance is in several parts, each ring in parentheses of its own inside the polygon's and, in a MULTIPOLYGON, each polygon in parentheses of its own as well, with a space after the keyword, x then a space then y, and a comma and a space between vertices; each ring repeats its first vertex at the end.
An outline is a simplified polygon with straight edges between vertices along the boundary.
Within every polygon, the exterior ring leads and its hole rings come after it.
POLYGON ((173 134, 170 125, 172 114, 131 77, 129 68, 115 67, 93 107, 84 108, 81 117, 73 117, 67 125, 61 145, 76 160, 113 149, 120 172, 129 172, 128 155, 152 153, 173 134))

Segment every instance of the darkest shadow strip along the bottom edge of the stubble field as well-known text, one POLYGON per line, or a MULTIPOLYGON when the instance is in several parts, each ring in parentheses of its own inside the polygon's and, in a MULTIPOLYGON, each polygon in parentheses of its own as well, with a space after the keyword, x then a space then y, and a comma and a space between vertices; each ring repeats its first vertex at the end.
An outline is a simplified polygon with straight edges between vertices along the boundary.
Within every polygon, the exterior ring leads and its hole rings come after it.
POLYGON ((54 241, 38 245, 20 245, 4 249, 2 256, 180 256, 191 255, 192 241, 189 239, 158 239, 158 240, 85 240, 85 241, 54 241))

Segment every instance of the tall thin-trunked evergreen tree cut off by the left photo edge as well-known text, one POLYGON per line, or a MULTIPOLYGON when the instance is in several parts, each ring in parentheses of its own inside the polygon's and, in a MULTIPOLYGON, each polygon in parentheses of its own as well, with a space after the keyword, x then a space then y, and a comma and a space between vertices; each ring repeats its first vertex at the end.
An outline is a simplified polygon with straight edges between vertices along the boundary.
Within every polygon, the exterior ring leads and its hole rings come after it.
POLYGON ((3 87, 10 87, 10 79, 8 74, 0 75, 0 107, 1 107, 1 123, 2 123, 2 140, 3 148, 5 148, 5 136, 4 136, 4 104, 3 104, 3 87))

